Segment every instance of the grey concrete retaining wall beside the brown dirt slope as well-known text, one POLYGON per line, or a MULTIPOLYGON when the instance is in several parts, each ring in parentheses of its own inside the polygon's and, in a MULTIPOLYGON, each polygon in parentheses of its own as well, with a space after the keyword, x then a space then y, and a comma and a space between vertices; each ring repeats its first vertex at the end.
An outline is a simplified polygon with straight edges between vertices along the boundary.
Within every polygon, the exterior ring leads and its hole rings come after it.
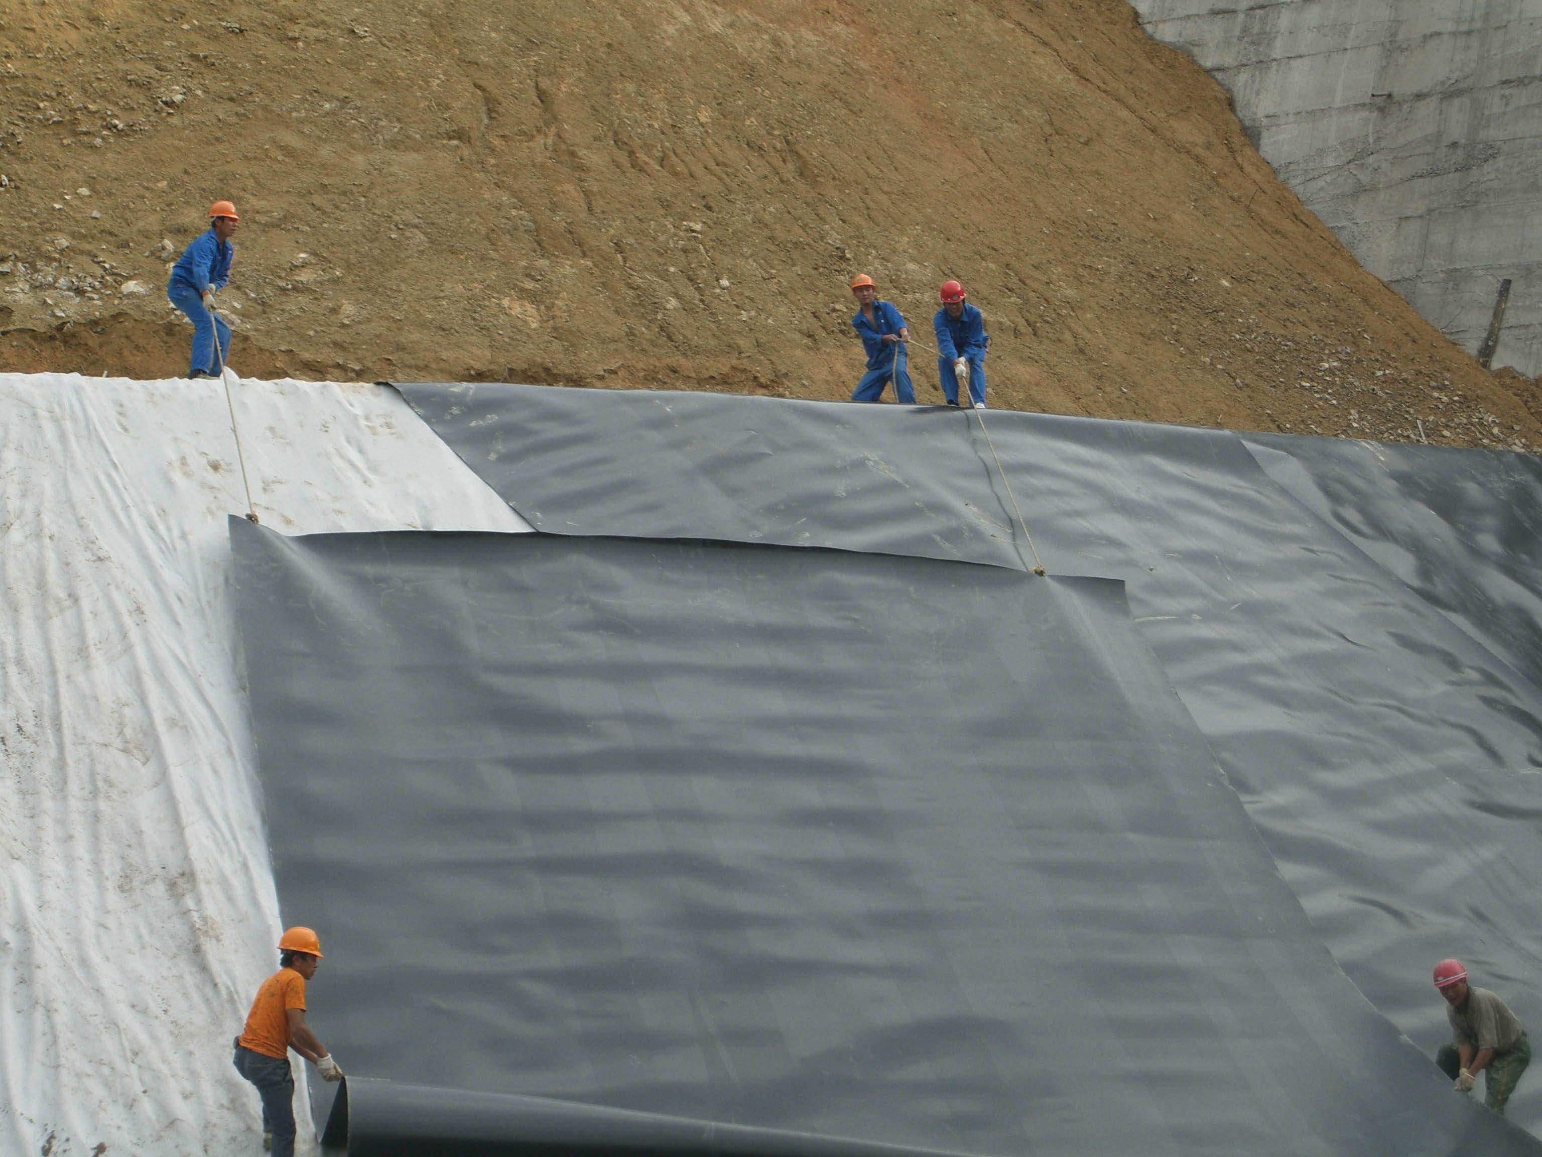
POLYGON ((1542 373, 1542 0, 1132 0, 1360 262, 1542 373))

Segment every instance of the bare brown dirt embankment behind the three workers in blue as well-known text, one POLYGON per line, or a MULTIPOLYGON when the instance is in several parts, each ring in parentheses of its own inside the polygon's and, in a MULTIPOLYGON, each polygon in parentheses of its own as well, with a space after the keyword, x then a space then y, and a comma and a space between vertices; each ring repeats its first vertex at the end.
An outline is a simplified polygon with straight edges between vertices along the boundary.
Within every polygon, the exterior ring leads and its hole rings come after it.
POLYGON ((231 197, 248 375, 837 398, 956 276, 998 406, 1542 446, 1124 0, 19 0, 0 86, 0 369, 185 372, 231 197))

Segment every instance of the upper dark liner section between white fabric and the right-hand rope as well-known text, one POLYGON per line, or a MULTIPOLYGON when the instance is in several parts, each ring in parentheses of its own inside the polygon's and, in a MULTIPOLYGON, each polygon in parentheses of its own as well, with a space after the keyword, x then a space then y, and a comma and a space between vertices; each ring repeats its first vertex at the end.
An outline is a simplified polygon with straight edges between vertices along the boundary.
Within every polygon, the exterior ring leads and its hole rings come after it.
POLYGON ((1027 569, 990 450, 956 409, 498 384, 396 389, 538 531, 1027 569))

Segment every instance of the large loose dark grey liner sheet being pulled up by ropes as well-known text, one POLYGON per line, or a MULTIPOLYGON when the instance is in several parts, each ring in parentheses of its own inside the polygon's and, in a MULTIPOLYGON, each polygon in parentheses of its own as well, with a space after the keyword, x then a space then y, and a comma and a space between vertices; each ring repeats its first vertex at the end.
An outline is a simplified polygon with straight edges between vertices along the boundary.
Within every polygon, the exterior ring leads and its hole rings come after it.
POLYGON ((356 1154, 1537 1151, 1334 964, 1119 583, 231 540, 356 1154))

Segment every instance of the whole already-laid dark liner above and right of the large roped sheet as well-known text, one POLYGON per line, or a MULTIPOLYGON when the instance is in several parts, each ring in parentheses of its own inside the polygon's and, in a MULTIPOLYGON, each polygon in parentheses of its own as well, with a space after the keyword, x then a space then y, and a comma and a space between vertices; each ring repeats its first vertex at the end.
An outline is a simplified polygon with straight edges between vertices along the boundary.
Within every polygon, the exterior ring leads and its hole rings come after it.
MULTIPOLYGON (((1124 578, 1141 632, 1371 1001, 1433 1052, 1446 1027, 1429 967, 1460 955, 1542 1023, 1530 455, 1249 447, 1221 430, 1001 412, 987 441, 976 415, 941 407, 402 389, 544 531, 1042 558, 1050 574, 1124 578)), ((1522 1086, 1510 1112, 1542 1128, 1542 1091, 1522 1086)))

